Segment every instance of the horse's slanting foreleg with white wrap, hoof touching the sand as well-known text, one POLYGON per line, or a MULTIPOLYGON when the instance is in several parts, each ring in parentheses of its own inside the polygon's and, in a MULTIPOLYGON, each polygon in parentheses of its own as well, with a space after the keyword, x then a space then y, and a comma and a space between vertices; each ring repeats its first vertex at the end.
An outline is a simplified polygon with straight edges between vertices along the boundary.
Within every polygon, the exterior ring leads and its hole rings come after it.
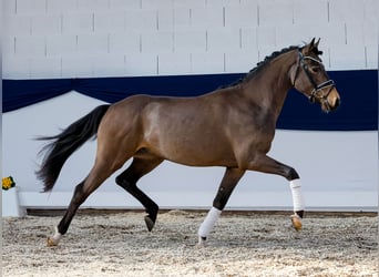
POLYGON ((213 226, 218 219, 222 211, 224 209, 227 201, 231 197, 233 189, 236 187, 238 181, 244 175, 245 171, 239 168, 226 168, 223 181, 218 187, 213 207, 206 215, 204 222, 198 229, 198 244, 203 245, 208 237, 213 226))

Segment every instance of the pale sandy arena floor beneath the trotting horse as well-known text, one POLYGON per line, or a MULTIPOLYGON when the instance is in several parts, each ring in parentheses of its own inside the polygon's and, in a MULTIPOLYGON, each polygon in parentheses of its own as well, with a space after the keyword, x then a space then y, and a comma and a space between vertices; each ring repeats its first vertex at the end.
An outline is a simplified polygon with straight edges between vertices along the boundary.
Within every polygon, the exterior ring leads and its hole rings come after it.
POLYGON ((79 213, 57 247, 61 216, 2 218, 2 276, 378 276, 376 214, 224 213, 197 247, 205 212, 79 213))

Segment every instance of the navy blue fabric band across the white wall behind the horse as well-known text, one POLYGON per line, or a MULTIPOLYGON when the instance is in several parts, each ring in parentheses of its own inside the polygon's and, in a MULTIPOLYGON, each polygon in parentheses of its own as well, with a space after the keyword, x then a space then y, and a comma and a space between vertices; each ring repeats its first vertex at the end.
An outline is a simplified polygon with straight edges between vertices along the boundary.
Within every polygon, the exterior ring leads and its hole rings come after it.
MULTIPOLYGON (((329 114, 295 90, 288 93, 278 129, 319 131, 378 130, 378 71, 331 71, 341 95, 340 107, 329 114)), ((44 101, 70 91, 114 103, 134 94, 196 96, 227 85, 245 74, 3 80, 2 111, 44 101)))

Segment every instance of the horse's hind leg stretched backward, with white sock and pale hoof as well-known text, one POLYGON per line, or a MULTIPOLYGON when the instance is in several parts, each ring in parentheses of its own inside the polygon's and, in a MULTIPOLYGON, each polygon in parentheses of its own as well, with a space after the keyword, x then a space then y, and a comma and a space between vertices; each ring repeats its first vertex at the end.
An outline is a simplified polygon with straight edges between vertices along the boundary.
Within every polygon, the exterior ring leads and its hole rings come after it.
POLYGON ((95 163, 89 176, 81 182, 74 191, 70 205, 59 225, 55 234, 48 238, 49 246, 59 244, 62 235, 64 235, 71 224, 80 205, 93 193, 116 168, 109 166, 105 162, 95 163))

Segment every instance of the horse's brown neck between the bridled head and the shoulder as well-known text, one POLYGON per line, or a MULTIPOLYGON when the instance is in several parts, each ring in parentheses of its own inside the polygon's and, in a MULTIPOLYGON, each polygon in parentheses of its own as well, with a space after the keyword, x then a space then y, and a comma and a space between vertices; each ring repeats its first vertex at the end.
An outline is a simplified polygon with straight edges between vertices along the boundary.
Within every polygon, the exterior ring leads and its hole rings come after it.
POLYGON ((279 116, 287 92, 291 88, 289 70, 296 63, 295 54, 284 53, 260 69, 245 85, 244 92, 254 104, 270 110, 279 116))

